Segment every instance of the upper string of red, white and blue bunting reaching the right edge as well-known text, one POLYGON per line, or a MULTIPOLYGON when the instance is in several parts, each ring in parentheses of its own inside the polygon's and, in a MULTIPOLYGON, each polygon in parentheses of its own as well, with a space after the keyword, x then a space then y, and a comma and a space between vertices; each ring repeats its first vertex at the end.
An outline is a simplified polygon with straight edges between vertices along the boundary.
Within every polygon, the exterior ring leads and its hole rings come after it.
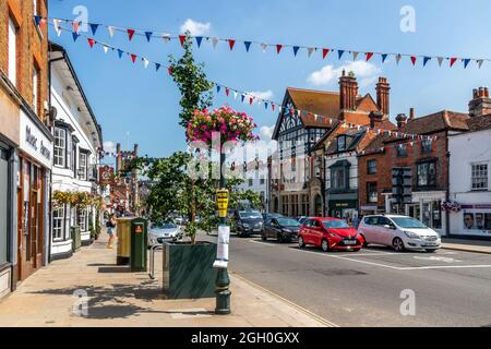
MULTIPOLYGON (((146 39, 146 41, 151 41, 154 38, 163 39, 165 43, 169 43, 171 40, 179 40, 181 46, 184 44, 187 36, 184 34, 169 34, 157 31, 142 31, 131 27, 119 27, 113 25, 98 24, 98 23, 85 23, 81 21, 65 20, 65 19, 57 19, 57 17, 43 17, 39 15, 34 16, 37 25, 44 25, 48 21, 52 21, 55 26, 55 31, 58 36, 61 35, 60 25, 61 23, 68 23, 71 25, 73 33, 79 34, 82 25, 87 25, 91 28, 92 34, 95 36, 99 27, 105 27, 108 31, 109 36, 112 38, 116 32, 124 33, 128 36, 128 39, 133 40, 134 36, 142 36, 146 39)), ((220 38, 220 37, 212 37, 212 36, 194 36, 190 35, 190 38, 194 39, 197 47, 201 48, 203 40, 211 43, 214 48, 217 47, 219 43, 225 43, 228 45, 230 51, 236 48, 237 43, 241 43, 246 49, 246 52, 251 50, 252 46, 258 46, 262 51, 266 51, 268 48, 276 51, 276 53, 280 53, 286 48, 291 49, 294 57, 297 57, 300 50, 307 52, 307 56, 310 58, 315 52, 322 53, 322 58, 326 59, 326 57, 331 53, 337 53, 338 60, 340 60, 345 55, 350 55, 352 60, 357 60, 360 56, 364 57, 364 60, 368 62, 374 56, 379 56, 382 63, 387 62, 387 59, 393 58, 398 65, 403 58, 408 59, 412 65, 416 65, 418 61, 422 63, 422 67, 426 67, 430 61, 436 61, 440 67, 443 65, 444 61, 448 61, 450 67, 454 67, 457 61, 463 63, 464 69, 466 69, 470 62, 476 62, 479 69, 486 62, 491 61, 489 58, 470 58, 470 57, 446 57, 446 56, 429 56, 429 55, 414 55, 414 53, 397 53, 397 52, 376 52, 376 51, 355 51, 348 49, 333 48, 333 47, 315 47, 315 46, 304 46, 304 45, 290 45, 290 44, 270 44, 258 40, 243 40, 237 38, 220 38)))

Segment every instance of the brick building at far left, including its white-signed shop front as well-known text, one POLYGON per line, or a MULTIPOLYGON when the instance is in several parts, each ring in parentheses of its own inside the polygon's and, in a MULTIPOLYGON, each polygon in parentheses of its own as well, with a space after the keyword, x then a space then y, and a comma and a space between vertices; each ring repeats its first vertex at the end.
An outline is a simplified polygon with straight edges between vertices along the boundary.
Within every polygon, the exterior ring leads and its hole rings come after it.
POLYGON ((0 1, 0 297, 47 263, 49 178, 47 0, 0 1))

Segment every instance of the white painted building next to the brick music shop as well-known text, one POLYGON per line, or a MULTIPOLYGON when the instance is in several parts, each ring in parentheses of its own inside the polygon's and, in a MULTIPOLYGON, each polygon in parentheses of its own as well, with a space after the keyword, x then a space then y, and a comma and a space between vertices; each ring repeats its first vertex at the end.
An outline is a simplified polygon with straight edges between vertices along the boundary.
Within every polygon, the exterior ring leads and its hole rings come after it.
MULTIPOLYGON (((67 51, 50 44, 51 106, 53 120, 52 192, 100 194, 97 185, 100 125, 94 117, 67 51)), ((82 244, 91 243, 89 228, 96 225, 94 207, 61 205, 52 208, 51 260, 73 252, 72 227, 79 227, 82 244)))

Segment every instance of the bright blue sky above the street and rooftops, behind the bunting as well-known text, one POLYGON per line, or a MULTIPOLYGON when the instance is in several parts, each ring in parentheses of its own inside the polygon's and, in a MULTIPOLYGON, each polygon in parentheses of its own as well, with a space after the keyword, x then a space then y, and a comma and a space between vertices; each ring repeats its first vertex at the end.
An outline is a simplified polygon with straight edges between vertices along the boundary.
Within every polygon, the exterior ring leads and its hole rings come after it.
MULTIPOLYGON (((491 3, 469 1, 326 1, 326 0, 49 0, 50 16, 75 19, 77 5, 87 9, 88 22, 121 27, 179 33, 191 20, 193 27, 206 36, 253 39, 266 43, 299 44, 318 47, 346 48, 357 51, 387 51, 445 57, 491 58, 491 3), (400 9, 411 5, 416 14, 416 32, 400 29, 400 9)), ((184 149, 184 131, 178 125, 179 92, 165 71, 155 73, 143 64, 133 65, 129 59, 120 61, 117 55, 105 55, 100 47, 89 49, 86 40, 73 43, 69 33, 58 37, 50 28, 51 40, 63 45, 75 67, 94 112, 103 127, 105 141, 130 146, 139 143, 143 154, 168 156, 184 149)), ((97 39, 147 57, 167 61, 168 55, 179 56, 178 41, 165 44, 143 37, 131 43, 117 33, 110 38, 100 28, 97 39)), ((462 63, 450 69, 435 61, 426 68, 421 62, 412 67, 406 59, 397 67, 394 61, 381 64, 374 57, 370 64, 352 65, 346 55, 340 61, 336 55, 326 60, 318 52, 311 58, 291 49, 279 56, 273 49, 265 53, 251 47, 246 53, 240 44, 229 51, 226 44, 214 50, 203 44, 195 49, 197 61, 206 64, 211 81, 248 92, 265 93, 280 103, 285 88, 301 87, 338 91, 337 75, 342 67, 355 69, 361 83, 360 93, 374 93, 374 80, 386 76, 392 86, 391 115, 416 108, 417 116, 442 109, 467 111, 472 88, 491 82, 491 62, 482 69, 475 63, 464 70, 462 63)), ((215 94, 216 95, 216 94, 215 94)), ((240 98, 215 97, 215 107, 230 104, 252 115, 260 128, 272 127, 276 113, 264 107, 242 105, 240 98)), ((263 130, 263 135, 267 129, 263 130)))

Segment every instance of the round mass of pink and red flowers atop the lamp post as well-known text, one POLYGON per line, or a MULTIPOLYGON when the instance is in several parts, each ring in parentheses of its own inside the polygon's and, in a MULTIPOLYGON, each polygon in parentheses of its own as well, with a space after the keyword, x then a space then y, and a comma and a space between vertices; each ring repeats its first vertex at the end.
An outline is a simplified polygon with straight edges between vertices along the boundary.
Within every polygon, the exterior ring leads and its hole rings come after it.
POLYGON ((253 118, 226 106, 213 110, 194 110, 188 123, 188 142, 200 141, 212 144, 219 136, 225 142, 247 142, 259 140, 253 130, 258 127, 253 118))

